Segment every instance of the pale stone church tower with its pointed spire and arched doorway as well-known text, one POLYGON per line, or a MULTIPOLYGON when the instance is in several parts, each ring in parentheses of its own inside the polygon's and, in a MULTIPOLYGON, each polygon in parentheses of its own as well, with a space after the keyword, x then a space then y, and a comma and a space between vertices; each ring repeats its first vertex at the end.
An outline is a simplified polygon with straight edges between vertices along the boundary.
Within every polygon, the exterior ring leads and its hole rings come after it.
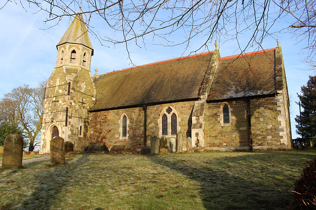
POLYGON ((56 67, 45 88, 40 153, 50 152, 49 141, 55 136, 71 141, 75 151, 86 146, 88 110, 96 96, 91 56, 93 48, 82 14, 78 14, 57 44, 56 67))

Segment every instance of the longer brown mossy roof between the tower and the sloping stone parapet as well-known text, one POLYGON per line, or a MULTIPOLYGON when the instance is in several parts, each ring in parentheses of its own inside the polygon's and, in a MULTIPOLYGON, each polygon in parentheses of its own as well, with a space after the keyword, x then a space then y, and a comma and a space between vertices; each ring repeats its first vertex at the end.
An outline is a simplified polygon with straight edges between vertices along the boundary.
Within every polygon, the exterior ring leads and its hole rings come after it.
POLYGON ((90 112, 199 98, 212 52, 100 75, 90 112))

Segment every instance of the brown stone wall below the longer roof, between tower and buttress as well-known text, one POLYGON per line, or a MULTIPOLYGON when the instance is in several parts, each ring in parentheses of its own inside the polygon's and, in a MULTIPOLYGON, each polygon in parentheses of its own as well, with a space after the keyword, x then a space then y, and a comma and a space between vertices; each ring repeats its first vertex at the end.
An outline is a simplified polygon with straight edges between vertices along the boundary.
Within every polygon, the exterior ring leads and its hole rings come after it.
MULTIPOLYGON (((183 133, 184 138, 191 136, 191 112, 194 101, 148 106, 147 146, 150 146, 152 135, 159 137, 158 120, 162 110, 168 106, 174 108, 178 114, 178 131, 183 133)), ((133 145, 136 149, 141 149, 144 146, 144 111, 142 107, 93 112, 90 113, 90 117, 88 136, 90 143, 104 142, 109 149, 114 145, 133 145), (123 114, 127 116, 127 138, 121 138, 119 132, 119 120, 123 114)), ((169 136, 169 138, 175 138, 175 136, 169 136)))

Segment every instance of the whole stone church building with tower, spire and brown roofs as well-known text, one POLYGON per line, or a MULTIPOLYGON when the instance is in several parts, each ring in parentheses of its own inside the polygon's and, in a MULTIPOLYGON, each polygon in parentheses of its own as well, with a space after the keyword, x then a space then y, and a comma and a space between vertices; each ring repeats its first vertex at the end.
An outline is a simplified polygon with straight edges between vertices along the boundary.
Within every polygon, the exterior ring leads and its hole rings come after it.
MULTIPOLYGON (((132 145, 150 137, 192 138, 208 150, 292 147, 281 47, 221 57, 212 52, 91 76, 93 48, 82 15, 57 44, 45 89, 40 153, 61 136, 83 151, 89 143, 132 145)), ((169 140, 168 140, 169 141, 169 140)), ((186 141, 183 149, 186 150, 186 141)))

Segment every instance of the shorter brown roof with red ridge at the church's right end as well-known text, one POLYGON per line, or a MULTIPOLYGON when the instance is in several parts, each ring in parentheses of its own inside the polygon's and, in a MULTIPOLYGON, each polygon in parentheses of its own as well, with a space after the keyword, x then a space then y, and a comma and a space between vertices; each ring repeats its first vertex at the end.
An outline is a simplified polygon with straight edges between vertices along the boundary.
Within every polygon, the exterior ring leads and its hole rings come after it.
POLYGON ((220 58, 207 100, 276 93, 275 48, 220 58))

